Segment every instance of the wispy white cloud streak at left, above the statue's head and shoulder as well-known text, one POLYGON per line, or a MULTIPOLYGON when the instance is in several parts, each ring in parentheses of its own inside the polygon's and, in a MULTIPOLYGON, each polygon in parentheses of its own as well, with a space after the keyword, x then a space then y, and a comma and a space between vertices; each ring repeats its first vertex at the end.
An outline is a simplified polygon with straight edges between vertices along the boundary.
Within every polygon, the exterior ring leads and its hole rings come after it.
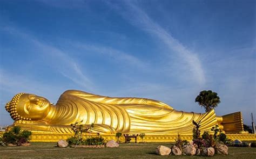
POLYGON ((39 53, 43 54, 44 60, 48 61, 51 64, 51 67, 56 69, 58 73, 71 79, 71 81, 78 85, 83 86, 83 88, 87 90, 93 89, 93 82, 91 82, 89 77, 84 74, 84 70, 78 66, 78 62, 69 56, 68 53, 41 42, 33 37, 33 35, 21 32, 14 27, 5 27, 3 29, 23 40, 31 42, 33 47, 37 47, 39 53))

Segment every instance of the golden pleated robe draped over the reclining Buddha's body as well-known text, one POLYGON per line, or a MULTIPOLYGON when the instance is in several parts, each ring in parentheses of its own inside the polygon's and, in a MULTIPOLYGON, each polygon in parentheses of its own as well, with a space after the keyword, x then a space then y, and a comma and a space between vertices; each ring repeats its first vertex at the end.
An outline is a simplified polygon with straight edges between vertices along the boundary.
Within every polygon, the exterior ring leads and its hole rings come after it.
MULTIPOLYGON (((214 110, 207 113, 176 111, 157 100, 145 98, 112 98, 77 90, 65 91, 56 109, 59 121, 51 125, 70 125, 77 121, 94 123, 109 133, 192 134, 192 121, 200 122, 201 131, 217 125, 214 110)), ((57 131, 57 130, 56 130, 57 131)))

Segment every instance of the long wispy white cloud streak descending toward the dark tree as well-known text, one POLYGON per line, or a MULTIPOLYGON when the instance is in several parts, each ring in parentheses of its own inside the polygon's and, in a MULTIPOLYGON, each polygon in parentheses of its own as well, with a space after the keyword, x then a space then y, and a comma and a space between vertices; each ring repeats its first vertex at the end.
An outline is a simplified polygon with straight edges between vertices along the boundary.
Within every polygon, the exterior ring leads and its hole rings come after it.
MULTIPOLYGON (((174 53, 177 53, 180 56, 181 60, 184 60, 187 63, 187 70, 190 70, 192 77, 200 85, 205 84, 205 73, 204 69, 201 66, 201 61, 197 54, 192 53, 187 49, 180 41, 175 39, 171 33, 167 32, 163 27, 158 23, 154 22, 138 5, 134 4, 132 1, 126 2, 126 11, 120 9, 117 5, 109 4, 112 8, 117 9, 126 19, 128 19, 132 25, 138 26, 142 30, 156 35, 158 39, 164 42, 164 44, 174 53)), ((169 54, 170 59, 172 57, 169 54)))

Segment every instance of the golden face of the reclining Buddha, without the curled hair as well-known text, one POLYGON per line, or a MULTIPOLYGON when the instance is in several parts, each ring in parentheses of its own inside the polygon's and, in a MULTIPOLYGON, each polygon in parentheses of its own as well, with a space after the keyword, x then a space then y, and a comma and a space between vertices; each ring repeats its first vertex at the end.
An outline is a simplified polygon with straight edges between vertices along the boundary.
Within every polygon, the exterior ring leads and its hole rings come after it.
POLYGON ((17 103, 17 113, 23 118, 43 119, 50 110, 49 100, 32 94, 23 94, 17 103))

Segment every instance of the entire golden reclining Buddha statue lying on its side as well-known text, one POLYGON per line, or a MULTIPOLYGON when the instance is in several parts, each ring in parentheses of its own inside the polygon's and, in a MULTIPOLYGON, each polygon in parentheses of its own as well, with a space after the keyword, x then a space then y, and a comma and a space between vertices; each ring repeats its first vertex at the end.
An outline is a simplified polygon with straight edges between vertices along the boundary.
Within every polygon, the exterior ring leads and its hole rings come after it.
POLYGON ((145 133, 156 135, 192 134, 192 121, 200 122, 201 131, 219 125, 226 133, 243 131, 241 112, 215 115, 176 111, 157 100, 112 98, 78 90, 65 91, 56 105, 48 99, 28 93, 15 95, 5 109, 14 125, 32 132, 73 133, 71 124, 94 124, 93 131, 103 134, 145 133))

